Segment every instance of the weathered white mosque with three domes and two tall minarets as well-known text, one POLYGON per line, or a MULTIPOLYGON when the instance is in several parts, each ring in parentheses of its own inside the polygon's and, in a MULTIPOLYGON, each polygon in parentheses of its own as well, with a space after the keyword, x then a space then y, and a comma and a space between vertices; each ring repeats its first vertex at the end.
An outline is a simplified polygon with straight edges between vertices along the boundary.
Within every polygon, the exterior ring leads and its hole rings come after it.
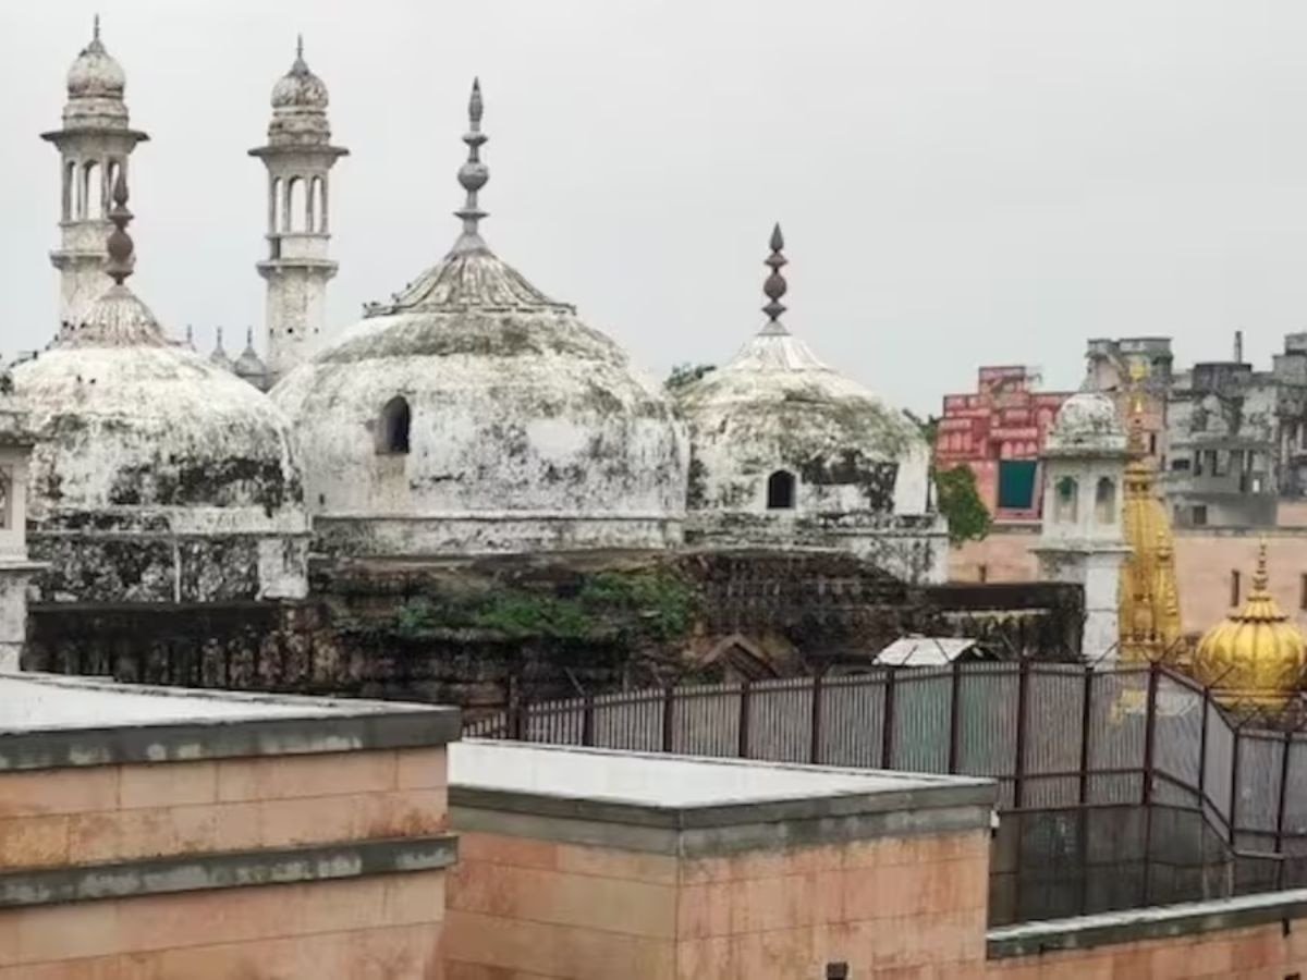
POLYGON ((5 396, 30 444, 5 478, 10 506, 26 489, 12 523, 33 601, 274 604, 308 593, 310 555, 763 546, 942 579, 929 446, 782 325, 779 227, 759 333, 665 391, 488 244, 473 84, 452 247, 357 324, 328 327, 332 170, 348 150, 301 43, 250 150, 268 175, 265 355, 251 331, 235 359, 221 335, 204 357, 127 285, 131 159, 149 137, 125 86, 97 20, 63 124, 43 135, 61 174, 58 331, 5 396))

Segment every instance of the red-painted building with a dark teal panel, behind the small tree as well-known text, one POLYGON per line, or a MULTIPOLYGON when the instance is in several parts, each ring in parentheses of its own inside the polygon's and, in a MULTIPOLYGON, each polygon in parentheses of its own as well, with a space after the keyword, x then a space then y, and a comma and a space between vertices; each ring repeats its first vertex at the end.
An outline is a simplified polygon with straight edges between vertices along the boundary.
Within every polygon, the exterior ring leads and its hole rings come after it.
POLYGON ((935 465, 970 466, 997 520, 1039 517, 1039 455, 1072 392, 1036 392, 1036 383, 1027 367, 982 367, 974 393, 944 396, 935 465))

